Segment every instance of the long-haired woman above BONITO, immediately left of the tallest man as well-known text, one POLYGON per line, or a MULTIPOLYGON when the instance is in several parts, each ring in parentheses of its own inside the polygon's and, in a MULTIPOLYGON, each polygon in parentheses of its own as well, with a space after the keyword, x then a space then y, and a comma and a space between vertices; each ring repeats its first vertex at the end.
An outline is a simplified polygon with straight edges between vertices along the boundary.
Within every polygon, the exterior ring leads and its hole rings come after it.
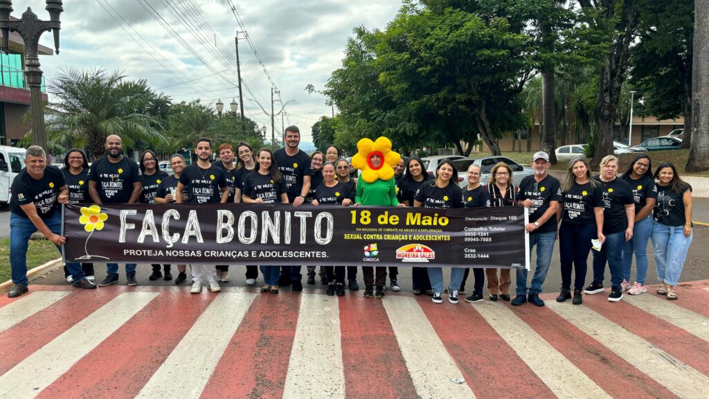
MULTIPOLYGON (((251 173, 244 183, 242 200, 246 204, 288 203, 286 187, 281 172, 273 159, 273 153, 268 148, 261 148, 257 153, 258 170, 251 173)), ((278 293, 278 279, 281 276, 281 266, 261 266, 264 276, 262 293, 278 293)))

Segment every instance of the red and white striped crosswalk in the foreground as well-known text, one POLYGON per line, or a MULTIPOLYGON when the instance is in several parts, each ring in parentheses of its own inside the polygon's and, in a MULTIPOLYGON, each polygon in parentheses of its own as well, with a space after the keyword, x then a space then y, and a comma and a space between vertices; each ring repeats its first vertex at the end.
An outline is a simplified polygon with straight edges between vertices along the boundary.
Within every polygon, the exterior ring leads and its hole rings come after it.
POLYGON ((188 289, 0 297, 0 398, 709 398, 709 280, 545 307, 188 289))

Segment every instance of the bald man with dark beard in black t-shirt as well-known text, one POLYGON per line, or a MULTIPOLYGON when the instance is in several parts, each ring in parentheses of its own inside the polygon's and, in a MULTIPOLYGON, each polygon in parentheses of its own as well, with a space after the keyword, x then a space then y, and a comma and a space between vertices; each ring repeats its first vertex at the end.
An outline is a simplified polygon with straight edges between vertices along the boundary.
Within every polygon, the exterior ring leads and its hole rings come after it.
MULTIPOLYGON (((135 204, 143 192, 143 173, 135 160, 123 156, 123 141, 115 134, 106 137, 106 156, 91 164, 89 170, 89 195, 96 204, 135 204)), ((135 280, 135 263, 125 263, 128 285, 138 285, 135 280)), ((118 283, 118 263, 106 263, 108 275, 99 287, 118 283)))

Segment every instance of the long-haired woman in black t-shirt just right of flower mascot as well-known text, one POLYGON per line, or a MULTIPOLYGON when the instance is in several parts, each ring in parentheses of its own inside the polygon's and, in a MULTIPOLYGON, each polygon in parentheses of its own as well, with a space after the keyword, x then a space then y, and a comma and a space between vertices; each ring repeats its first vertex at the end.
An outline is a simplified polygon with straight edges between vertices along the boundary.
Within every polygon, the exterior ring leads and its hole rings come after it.
MULTIPOLYGON (((433 180, 433 176, 426 173, 423 169, 423 160, 418 155, 412 155, 406 161, 406 172, 398 185, 397 197, 401 199, 407 207, 413 207, 413 197, 423 183, 433 180)), ((457 180, 457 179, 455 179, 457 180)), ((411 268, 411 280, 413 285, 413 295, 433 295, 431 282, 428 280, 428 271, 426 268, 411 268)))

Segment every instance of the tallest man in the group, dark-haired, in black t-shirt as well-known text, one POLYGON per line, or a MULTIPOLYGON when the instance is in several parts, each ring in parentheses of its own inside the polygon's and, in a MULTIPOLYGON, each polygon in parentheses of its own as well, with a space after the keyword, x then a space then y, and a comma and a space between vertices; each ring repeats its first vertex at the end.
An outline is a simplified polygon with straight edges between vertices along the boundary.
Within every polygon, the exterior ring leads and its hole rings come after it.
MULTIPOLYGON (((311 159, 308 154, 298 148, 301 143, 301 131, 298 126, 288 126, 283 135, 283 141, 286 146, 276 150, 273 153, 273 158, 283 175, 288 202, 294 207, 299 207, 310 192, 311 176, 313 175, 311 159)), ((301 266, 283 266, 279 285, 289 285, 292 282, 292 290, 302 291, 302 278, 301 266)))

